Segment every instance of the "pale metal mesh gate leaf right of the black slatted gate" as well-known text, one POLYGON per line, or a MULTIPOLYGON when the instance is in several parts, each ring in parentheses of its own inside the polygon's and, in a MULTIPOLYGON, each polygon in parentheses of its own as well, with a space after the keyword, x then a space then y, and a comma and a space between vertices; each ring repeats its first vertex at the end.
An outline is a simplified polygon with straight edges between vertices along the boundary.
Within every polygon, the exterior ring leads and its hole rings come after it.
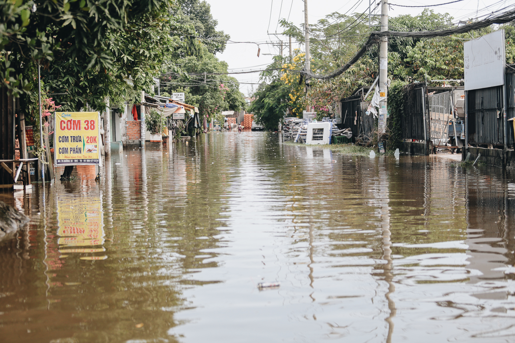
POLYGON ((443 92, 427 96, 429 110, 429 139, 434 145, 445 145, 447 128, 451 115, 451 92, 443 92))

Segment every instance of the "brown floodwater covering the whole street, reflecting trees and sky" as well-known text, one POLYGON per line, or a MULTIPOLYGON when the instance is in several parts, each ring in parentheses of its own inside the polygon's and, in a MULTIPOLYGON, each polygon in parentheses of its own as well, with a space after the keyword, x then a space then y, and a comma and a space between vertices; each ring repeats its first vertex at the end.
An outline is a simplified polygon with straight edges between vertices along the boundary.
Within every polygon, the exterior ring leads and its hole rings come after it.
POLYGON ((0 193, 0 341, 514 342, 515 183, 453 163, 219 133, 0 193))

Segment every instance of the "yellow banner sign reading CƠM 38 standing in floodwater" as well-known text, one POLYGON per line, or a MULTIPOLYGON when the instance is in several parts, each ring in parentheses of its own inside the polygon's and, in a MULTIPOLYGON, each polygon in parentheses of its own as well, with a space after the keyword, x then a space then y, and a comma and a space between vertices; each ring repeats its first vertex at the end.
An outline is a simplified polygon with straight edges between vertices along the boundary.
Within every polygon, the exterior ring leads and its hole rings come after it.
POLYGON ((99 165, 100 114, 56 112, 54 152, 56 166, 99 165))

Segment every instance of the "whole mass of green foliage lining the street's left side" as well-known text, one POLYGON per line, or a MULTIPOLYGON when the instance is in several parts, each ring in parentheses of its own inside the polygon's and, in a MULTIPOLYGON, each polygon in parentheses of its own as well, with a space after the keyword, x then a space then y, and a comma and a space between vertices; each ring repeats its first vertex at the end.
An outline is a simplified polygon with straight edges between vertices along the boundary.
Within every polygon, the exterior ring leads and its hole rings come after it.
MULTIPOLYGON (((229 36, 215 29, 205 1, 0 0, 0 16, 0 82, 32 115, 38 63, 43 94, 67 111, 138 102, 163 72, 183 82, 191 82, 186 73, 227 73, 213 53, 229 36)), ((215 88, 186 93, 209 113, 244 106, 235 79, 220 78, 215 88)))

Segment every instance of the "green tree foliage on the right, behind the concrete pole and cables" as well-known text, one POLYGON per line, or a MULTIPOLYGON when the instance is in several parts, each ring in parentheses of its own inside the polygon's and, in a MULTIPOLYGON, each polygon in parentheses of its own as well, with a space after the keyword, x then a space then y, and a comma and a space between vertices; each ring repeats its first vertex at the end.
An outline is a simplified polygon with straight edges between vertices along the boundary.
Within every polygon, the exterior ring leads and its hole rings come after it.
MULTIPOLYGON (((368 17, 363 14, 344 15, 335 12, 310 25, 312 71, 317 74, 327 74, 347 63, 363 46, 370 30, 379 30, 377 27, 369 28, 367 24, 368 17)), ((285 34, 290 34, 297 41, 304 40, 302 25, 296 27, 293 23, 287 23, 284 20, 281 25, 285 28, 285 34)), ((394 31, 435 30, 450 25, 454 24, 453 18, 448 13, 435 13, 430 9, 424 9, 418 15, 400 15, 389 19, 389 29, 394 31)), ((500 28, 506 31, 506 62, 513 63, 515 62, 515 27, 512 24, 505 24, 500 28)), ((463 43, 496 29, 499 27, 486 27, 439 38, 390 38, 388 40, 389 78, 403 82, 427 80, 434 86, 441 86, 442 83, 431 80, 462 79, 464 77, 463 43)), ((269 69, 273 67, 276 67, 275 62, 269 66, 269 69)), ((378 73, 379 49, 373 46, 340 76, 325 81, 311 80, 307 93, 300 93, 296 99, 304 104, 308 103, 309 107, 314 107, 320 117, 329 116, 331 105, 351 95, 357 87, 372 84, 378 73)), ((268 78, 270 81, 270 75, 262 75, 262 77, 263 80, 268 78)), ((288 80, 284 77, 281 79, 279 75, 273 80, 283 82, 284 86, 288 85, 288 80)), ((289 86, 294 91, 293 83, 289 86)), ((257 94, 265 95, 259 92, 257 94)), ((278 94, 266 93, 268 96, 278 94)), ((285 93, 284 97, 287 99, 289 93, 285 93)), ((277 101, 278 99, 274 98, 274 102, 277 101)), ((299 115, 299 113, 296 114, 299 115)))

